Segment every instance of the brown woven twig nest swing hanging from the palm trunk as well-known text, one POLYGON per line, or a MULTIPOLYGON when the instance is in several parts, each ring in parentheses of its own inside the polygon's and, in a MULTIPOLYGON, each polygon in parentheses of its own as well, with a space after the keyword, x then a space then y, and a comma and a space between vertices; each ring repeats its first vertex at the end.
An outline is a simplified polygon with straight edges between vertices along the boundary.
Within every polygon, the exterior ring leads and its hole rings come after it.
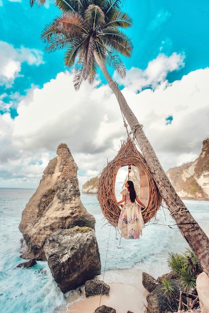
POLYGON ((135 165, 140 176, 140 194, 139 198, 146 205, 142 211, 144 223, 147 223, 155 216, 160 207, 162 197, 153 180, 147 163, 142 154, 136 149, 130 137, 121 144, 115 158, 108 162, 103 169, 98 184, 97 198, 99 200, 102 212, 108 222, 117 227, 120 208, 115 196, 115 179, 120 167, 128 164, 135 165))

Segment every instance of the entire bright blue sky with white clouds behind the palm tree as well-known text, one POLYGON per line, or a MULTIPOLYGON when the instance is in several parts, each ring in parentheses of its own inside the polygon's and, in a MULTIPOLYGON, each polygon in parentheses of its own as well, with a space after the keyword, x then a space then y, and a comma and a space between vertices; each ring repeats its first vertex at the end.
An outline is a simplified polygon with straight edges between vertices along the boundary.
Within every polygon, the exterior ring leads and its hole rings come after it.
MULTIPOLYGON (((126 0, 133 42, 127 77, 114 79, 165 170, 194 160, 209 136, 209 2, 126 0), (137 4, 136 4, 137 2, 137 4)), ((122 116, 102 75, 73 88, 64 51, 46 53, 52 1, 0 0, 0 187, 37 187, 66 142, 82 185, 113 158, 125 138, 122 116)))

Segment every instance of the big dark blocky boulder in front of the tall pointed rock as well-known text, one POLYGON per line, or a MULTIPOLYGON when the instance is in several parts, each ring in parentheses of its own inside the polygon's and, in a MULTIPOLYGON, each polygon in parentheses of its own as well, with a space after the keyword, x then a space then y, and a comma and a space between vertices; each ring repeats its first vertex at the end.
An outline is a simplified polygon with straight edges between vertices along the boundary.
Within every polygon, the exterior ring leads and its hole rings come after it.
POLYGON ((48 237, 44 251, 62 292, 76 289, 101 272, 98 244, 92 228, 59 229, 48 237))

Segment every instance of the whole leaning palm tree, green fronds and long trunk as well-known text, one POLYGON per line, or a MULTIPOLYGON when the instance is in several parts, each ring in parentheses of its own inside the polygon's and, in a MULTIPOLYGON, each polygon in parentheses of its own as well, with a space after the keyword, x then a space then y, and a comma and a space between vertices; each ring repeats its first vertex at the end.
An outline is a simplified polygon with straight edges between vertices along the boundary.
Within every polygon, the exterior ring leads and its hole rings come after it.
MULTIPOLYGON (((38 0, 42 4, 44 0, 38 0)), ((195 253, 202 269, 209 276, 209 239, 181 201, 148 141, 142 127, 122 92, 107 71, 113 66, 117 73, 125 76, 125 67, 117 54, 129 56, 132 50, 130 39, 119 30, 131 25, 131 18, 120 8, 123 0, 55 0, 61 16, 46 25, 42 37, 47 42, 46 50, 66 49, 65 64, 75 63, 74 86, 79 89, 83 80, 93 82, 99 66, 155 179, 159 191, 171 216, 195 253)), ((31 0, 31 5, 34 0, 31 0)))

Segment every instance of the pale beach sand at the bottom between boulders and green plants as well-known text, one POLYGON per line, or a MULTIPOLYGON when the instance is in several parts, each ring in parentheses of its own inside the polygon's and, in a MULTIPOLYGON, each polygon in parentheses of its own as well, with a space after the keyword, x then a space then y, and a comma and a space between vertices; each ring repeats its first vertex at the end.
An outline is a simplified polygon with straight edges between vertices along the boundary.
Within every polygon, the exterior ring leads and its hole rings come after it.
MULTIPOLYGON (((136 268, 109 270, 105 275, 104 281, 110 285, 108 296, 97 295, 86 298, 83 288, 82 297, 70 304, 67 312, 93 313, 97 307, 102 305, 115 308, 117 313, 126 313, 128 310, 134 313, 145 312, 148 291, 142 285, 142 273, 140 271, 136 268)), ((96 278, 103 280, 102 275, 96 278)))

